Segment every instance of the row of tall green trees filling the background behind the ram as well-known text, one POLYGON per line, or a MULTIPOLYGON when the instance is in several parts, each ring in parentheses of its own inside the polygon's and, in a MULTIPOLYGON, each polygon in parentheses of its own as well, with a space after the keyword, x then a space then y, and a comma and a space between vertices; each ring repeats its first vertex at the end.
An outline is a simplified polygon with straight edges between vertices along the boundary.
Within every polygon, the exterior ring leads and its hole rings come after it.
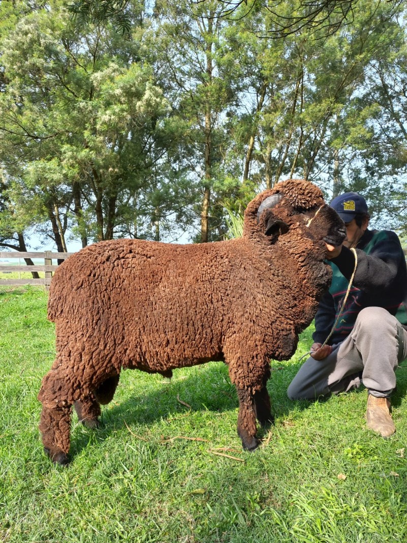
POLYGON ((404 9, 358 0, 334 34, 268 40, 306 3, 3 2, 0 238, 198 240, 206 222, 213 241, 224 203, 290 176, 361 191, 404 231, 404 9))

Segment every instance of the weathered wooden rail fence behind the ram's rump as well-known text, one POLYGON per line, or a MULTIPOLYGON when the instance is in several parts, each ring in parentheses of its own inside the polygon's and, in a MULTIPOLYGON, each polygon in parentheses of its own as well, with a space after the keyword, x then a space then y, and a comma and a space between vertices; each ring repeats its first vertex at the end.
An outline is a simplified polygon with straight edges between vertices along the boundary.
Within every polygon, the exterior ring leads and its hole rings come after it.
POLYGON ((34 263, 33 266, 28 266, 26 262, 24 264, 21 264, 20 262, 16 266, 14 265, 8 265, 7 262, 0 262, 0 271, 4 272, 11 272, 11 271, 18 271, 18 272, 31 272, 31 271, 43 271, 44 277, 40 277, 40 279, 34 279, 34 277, 29 277, 27 279, 0 279, 0 285, 42 285, 45 286, 48 290, 49 285, 51 283, 51 279, 53 276, 54 271, 58 266, 55 264, 53 265, 53 260, 65 260, 65 258, 68 258, 68 256, 72 255, 72 252, 52 252, 52 251, 45 251, 45 252, 20 252, 20 251, 0 251, 0 258, 4 258, 7 260, 18 258, 20 261, 24 261, 24 258, 35 258, 35 259, 41 259, 44 261, 43 264, 36 264, 34 263))

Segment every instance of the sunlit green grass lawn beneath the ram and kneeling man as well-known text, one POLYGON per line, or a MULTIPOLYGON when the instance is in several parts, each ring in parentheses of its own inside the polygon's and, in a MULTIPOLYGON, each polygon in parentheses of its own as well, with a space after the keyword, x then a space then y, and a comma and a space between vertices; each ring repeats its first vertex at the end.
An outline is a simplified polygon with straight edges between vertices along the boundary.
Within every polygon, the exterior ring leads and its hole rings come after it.
POLYGON ((101 430, 73 415, 72 463, 55 467, 37 430, 36 395, 54 359, 46 304, 41 289, 0 291, 0 541, 407 541, 405 367, 397 433, 384 440, 365 427, 365 389, 288 400, 307 330, 294 358, 271 364, 276 424, 254 453, 241 451, 226 365, 171 380, 126 371, 101 430))

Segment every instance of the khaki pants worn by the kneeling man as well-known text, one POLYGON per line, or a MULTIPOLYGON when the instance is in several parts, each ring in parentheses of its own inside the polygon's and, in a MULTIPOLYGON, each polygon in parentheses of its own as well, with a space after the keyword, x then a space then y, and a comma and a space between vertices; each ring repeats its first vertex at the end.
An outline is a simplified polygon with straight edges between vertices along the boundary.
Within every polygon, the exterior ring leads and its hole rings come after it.
POLYGON ((321 361, 309 357, 288 387, 291 400, 348 392, 361 381, 376 397, 396 388, 395 370, 407 358, 407 332, 381 307, 366 307, 343 342, 321 361))

